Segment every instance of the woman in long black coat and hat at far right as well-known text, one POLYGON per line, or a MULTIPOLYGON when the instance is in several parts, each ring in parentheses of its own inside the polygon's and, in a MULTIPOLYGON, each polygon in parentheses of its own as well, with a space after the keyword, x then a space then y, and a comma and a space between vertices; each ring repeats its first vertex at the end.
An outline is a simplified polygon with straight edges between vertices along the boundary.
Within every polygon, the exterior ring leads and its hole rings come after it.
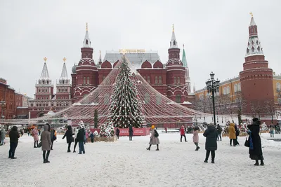
POLYGON ((251 125, 248 125, 248 134, 250 134, 253 141, 253 145, 250 145, 249 147, 249 155, 251 160, 256 160, 256 163, 254 165, 259 165, 259 160, 261 160, 261 165, 264 165, 263 151, 261 149, 261 137, 259 136, 260 125, 261 121, 258 118, 253 118, 253 123, 251 123, 251 125))

